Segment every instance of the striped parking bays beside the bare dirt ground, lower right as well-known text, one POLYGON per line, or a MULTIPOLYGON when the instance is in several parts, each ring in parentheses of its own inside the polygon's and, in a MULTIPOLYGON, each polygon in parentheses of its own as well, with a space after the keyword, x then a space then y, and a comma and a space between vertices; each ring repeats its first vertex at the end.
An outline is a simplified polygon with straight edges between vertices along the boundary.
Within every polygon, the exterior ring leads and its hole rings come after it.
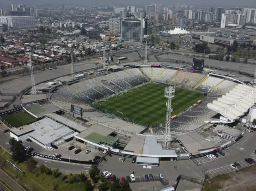
MULTIPOLYGON (((245 167, 249 167, 250 165, 253 165, 253 164, 249 164, 245 161, 240 161, 238 163, 241 165, 241 168, 245 168, 245 167)), ((235 170, 239 170, 241 168, 234 169, 230 165, 226 165, 224 167, 216 168, 214 170, 209 170, 206 173, 209 174, 210 178, 212 178, 212 177, 215 177, 218 175, 222 175, 222 174, 230 173, 235 170)))

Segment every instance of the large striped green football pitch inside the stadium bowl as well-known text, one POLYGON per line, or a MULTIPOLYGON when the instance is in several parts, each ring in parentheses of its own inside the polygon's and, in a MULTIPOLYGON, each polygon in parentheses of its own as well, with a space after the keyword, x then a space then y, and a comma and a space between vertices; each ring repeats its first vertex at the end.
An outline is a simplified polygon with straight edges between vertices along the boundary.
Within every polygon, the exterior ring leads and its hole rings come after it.
MULTIPOLYGON (((95 107, 117 114, 123 112, 126 118, 147 124, 162 123, 166 119, 166 102, 163 84, 149 84, 139 87, 131 92, 118 95, 106 101, 95 104, 95 107)), ((203 99, 204 94, 177 88, 172 99, 172 115, 178 114, 187 107, 203 99)))

